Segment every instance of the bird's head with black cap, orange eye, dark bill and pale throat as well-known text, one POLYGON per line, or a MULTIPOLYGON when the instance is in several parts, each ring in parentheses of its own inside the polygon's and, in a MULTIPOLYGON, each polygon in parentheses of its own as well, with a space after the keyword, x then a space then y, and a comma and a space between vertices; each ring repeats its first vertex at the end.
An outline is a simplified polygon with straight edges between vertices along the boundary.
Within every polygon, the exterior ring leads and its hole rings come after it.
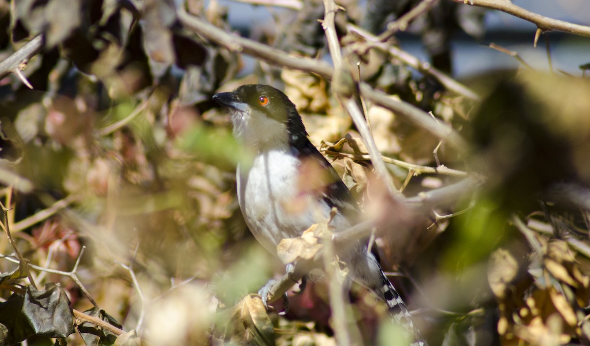
POLYGON ((307 141, 297 108, 270 85, 241 85, 232 93, 213 95, 213 100, 230 108, 234 136, 256 149, 300 147, 307 141))

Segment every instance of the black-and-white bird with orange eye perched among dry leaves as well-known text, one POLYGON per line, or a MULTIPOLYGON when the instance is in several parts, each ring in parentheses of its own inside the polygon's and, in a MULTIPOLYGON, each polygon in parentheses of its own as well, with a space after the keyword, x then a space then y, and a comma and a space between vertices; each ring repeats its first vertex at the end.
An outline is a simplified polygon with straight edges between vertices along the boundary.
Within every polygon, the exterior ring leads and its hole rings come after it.
MULTIPOLYGON (((359 222, 358 204, 309 140, 303 120, 287 95, 270 85, 245 84, 230 93, 217 93, 212 99, 228 110, 232 134, 253 154, 250 162, 238 163, 237 199, 246 225, 264 248, 276 255, 282 239, 301 236, 318 222, 318 216, 327 219, 333 208, 336 213, 329 226, 334 232, 359 222), (316 167, 314 173, 321 172, 321 189, 313 188, 312 179, 304 175, 310 165, 316 167)), ((394 322, 413 335, 411 345, 427 346, 401 296, 376 256, 368 251, 368 244, 359 240, 336 254, 348 266, 349 279, 376 294, 394 322)))

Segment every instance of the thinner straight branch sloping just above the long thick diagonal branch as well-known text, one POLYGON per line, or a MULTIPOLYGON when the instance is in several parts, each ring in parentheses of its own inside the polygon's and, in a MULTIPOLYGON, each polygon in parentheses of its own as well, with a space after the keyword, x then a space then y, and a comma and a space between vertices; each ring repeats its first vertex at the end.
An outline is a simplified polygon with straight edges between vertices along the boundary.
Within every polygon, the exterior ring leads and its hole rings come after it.
POLYGON ((347 24, 346 29, 348 32, 350 32, 350 34, 356 35, 357 37, 360 37, 366 41, 369 47, 374 47, 384 52, 388 52, 392 57, 401 60, 404 62, 404 64, 414 68, 418 72, 430 75, 432 78, 435 78, 439 83, 444 85, 447 90, 453 91, 459 95, 463 95, 464 97, 467 97, 471 100, 479 99, 479 96, 475 93, 475 91, 444 74, 442 71, 437 70, 437 68, 432 67, 430 62, 420 61, 417 57, 414 57, 414 55, 409 54, 398 47, 385 44, 380 38, 371 34, 371 32, 365 31, 356 25, 347 24))

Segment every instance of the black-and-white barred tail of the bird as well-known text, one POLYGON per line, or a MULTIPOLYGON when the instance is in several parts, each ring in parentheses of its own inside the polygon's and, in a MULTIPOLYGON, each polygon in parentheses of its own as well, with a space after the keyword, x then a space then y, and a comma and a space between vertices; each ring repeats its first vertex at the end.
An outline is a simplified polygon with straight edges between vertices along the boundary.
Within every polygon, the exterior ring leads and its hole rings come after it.
POLYGON ((383 271, 381 272, 382 285, 376 292, 378 296, 385 301, 389 309, 389 315, 391 315, 392 322, 401 325, 406 331, 408 331, 409 337, 415 340, 411 346, 428 346, 424 337, 418 331, 418 328, 414 326, 414 320, 412 315, 409 313, 401 296, 398 291, 395 290, 394 285, 389 282, 387 276, 383 271))

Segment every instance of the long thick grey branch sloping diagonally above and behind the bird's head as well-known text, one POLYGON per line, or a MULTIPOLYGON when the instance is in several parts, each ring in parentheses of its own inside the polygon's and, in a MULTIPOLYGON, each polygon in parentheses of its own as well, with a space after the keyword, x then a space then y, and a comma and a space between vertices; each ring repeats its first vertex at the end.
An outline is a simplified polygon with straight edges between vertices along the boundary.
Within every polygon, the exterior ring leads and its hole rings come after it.
MULTIPOLYGON (((225 47, 230 51, 242 52, 253 55, 274 65, 293 68, 294 70, 306 71, 320 75, 327 80, 332 78, 333 68, 329 64, 310 58, 294 57, 286 52, 268 47, 266 44, 229 34, 222 29, 204 21, 201 18, 188 14, 185 9, 179 8, 178 19, 182 25, 189 30, 209 39, 212 42, 225 47)), ((393 100, 391 96, 382 91, 373 90, 368 84, 360 83, 360 93, 379 106, 395 111, 399 116, 404 117, 407 121, 424 128, 440 139, 447 140, 448 143, 460 150, 465 150, 466 142, 450 126, 439 124, 432 119, 428 113, 401 100, 393 100)))

